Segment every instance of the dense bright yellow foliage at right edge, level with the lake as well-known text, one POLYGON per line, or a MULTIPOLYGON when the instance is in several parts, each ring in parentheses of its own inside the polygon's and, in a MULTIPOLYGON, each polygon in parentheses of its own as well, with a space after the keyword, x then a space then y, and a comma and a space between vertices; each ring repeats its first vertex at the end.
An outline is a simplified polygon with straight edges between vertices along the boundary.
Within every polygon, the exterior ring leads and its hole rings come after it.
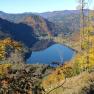
POLYGON ((84 69, 93 69, 94 68, 94 48, 91 48, 89 52, 83 52, 78 54, 75 58, 75 62, 78 62, 79 67, 84 69))

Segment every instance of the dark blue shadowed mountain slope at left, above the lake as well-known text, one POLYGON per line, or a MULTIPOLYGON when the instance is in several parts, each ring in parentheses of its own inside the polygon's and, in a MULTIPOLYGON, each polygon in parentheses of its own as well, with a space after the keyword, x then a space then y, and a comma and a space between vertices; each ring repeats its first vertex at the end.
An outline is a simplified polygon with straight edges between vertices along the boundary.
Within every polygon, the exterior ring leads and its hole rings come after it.
POLYGON ((12 23, 0 18, 0 37, 11 37, 14 40, 21 41, 28 47, 31 47, 38 41, 33 33, 33 28, 23 23, 12 23))

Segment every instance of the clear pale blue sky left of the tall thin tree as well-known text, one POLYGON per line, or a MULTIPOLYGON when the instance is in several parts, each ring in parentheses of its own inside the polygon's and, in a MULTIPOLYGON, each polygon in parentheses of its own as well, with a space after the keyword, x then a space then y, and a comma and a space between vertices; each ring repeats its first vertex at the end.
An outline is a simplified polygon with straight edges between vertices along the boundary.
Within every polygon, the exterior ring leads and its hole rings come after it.
POLYGON ((76 7, 77 0, 0 0, 0 11, 7 13, 42 13, 59 10, 75 10, 76 7))

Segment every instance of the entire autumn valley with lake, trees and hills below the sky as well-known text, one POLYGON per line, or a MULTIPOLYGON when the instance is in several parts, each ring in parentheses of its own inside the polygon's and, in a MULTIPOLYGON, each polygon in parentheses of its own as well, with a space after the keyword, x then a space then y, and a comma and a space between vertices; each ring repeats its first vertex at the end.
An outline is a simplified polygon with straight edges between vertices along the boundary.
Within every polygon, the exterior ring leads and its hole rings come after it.
POLYGON ((0 94, 94 94, 94 11, 80 11, 0 11, 0 94))

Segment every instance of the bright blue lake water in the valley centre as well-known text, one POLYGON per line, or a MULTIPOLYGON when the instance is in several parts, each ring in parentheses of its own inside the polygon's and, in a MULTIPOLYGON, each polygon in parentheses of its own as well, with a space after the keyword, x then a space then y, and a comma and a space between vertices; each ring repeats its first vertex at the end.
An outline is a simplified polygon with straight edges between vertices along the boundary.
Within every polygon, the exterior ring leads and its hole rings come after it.
POLYGON ((61 44, 54 44, 49 48, 32 52, 31 57, 27 60, 29 64, 51 64, 52 62, 65 62, 71 60, 75 51, 61 44))

